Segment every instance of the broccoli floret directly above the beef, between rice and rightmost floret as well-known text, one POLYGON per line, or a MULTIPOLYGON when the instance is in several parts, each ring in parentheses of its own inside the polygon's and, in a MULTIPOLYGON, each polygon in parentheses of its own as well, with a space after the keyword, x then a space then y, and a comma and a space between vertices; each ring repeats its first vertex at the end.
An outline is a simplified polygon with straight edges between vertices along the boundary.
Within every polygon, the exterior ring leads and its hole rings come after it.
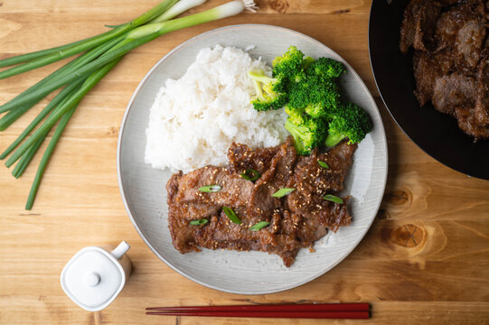
POLYGON ((324 144, 327 123, 322 118, 303 117, 303 123, 295 124, 289 117, 286 129, 294 137, 296 152, 308 155, 315 147, 324 144))

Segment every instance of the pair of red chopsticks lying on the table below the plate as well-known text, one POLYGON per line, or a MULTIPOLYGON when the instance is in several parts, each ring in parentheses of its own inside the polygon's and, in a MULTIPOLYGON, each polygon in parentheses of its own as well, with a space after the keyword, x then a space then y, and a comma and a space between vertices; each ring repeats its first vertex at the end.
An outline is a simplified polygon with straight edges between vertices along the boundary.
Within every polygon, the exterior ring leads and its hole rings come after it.
POLYGON ((368 303, 301 303, 230 306, 149 307, 147 315, 302 319, 368 319, 368 303))

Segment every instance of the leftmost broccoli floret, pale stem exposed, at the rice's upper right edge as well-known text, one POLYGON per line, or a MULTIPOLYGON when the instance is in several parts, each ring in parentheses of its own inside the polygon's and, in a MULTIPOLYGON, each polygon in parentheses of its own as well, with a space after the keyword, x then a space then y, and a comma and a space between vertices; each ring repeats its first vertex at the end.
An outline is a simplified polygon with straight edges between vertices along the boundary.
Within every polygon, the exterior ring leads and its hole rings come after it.
POLYGON ((268 77, 263 70, 249 71, 248 75, 257 91, 257 97, 251 100, 256 110, 279 109, 287 104, 287 94, 277 90, 277 79, 268 77))

